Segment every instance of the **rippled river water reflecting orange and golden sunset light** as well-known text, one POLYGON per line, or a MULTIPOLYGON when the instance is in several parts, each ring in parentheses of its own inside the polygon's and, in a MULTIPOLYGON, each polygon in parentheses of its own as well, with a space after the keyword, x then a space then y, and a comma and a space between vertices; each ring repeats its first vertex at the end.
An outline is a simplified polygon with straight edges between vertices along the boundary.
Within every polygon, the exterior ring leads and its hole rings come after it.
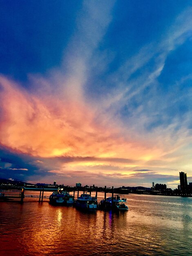
POLYGON ((0 256, 192 255, 192 198, 130 194, 127 202, 120 213, 0 202, 0 256))

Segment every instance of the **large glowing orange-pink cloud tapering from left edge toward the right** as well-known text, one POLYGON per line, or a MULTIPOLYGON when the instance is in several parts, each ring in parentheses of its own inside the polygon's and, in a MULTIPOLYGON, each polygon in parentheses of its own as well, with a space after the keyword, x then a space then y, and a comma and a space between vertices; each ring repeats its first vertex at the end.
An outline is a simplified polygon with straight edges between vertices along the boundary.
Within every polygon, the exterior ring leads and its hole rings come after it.
POLYGON ((37 96, 2 76, 0 84, 4 113, 0 143, 9 148, 39 157, 94 156, 140 159, 142 162, 162 153, 159 148, 152 150, 141 140, 130 138, 128 130, 122 134, 118 124, 110 124, 106 121, 109 118, 105 120, 107 112, 99 116, 81 97, 75 101, 71 96, 63 100, 56 95, 37 96))

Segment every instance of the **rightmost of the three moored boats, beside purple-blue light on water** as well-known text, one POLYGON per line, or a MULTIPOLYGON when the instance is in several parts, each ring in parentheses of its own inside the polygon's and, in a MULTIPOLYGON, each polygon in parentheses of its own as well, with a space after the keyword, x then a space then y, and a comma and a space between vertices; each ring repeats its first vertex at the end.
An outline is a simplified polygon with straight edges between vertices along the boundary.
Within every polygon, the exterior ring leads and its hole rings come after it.
POLYGON ((126 203, 127 199, 121 198, 120 195, 115 195, 113 198, 110 196, 106 198, 106 204, 104 199, 100 201, 100 209, 128 211, 129 207, 126 205, 126 203))

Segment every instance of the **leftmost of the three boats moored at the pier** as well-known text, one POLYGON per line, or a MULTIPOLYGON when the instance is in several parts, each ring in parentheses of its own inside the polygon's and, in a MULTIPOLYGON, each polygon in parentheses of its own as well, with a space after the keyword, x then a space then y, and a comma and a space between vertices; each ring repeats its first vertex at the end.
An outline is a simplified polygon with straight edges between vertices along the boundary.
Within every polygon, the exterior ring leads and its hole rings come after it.
POLYGON ((50 204, 58 205, 72 205, 74 203, 74 196, 70 195, 67 191, 53 192, 49 196, 50 204))

